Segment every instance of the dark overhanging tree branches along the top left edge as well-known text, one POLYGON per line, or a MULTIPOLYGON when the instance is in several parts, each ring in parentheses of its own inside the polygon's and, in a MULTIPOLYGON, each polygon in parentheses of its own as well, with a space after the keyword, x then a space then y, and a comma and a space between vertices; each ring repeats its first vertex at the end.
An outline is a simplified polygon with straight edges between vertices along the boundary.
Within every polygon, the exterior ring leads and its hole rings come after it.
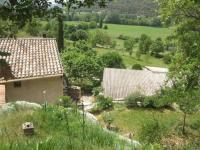
MULTIPOLYGON (((55 3, 60 4, 62 7, 67 7, 69 10, 72 7, 90 7, 96 3, 100 7, 105 7, 108 1, 110 0, 55 0, 55 3)), ((17 22, 19 26, 24 26, 33 16, 41 17, 46 15, 50 10, 49 8, 52 8, 52 3, 49 0, 6 0, 0 7, 0 18, 3 20, 9 19, 17 22)))

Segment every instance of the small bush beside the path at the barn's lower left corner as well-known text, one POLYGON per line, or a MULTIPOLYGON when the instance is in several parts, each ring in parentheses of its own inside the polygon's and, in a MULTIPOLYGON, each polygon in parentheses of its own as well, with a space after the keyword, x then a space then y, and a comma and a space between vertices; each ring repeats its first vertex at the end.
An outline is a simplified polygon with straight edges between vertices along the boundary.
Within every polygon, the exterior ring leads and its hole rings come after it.
POLYGON ((104 97, 103 95, 97 96, 97 108, 101 110, 107 110, 113 108, 113 99, 110 97, 104 97))

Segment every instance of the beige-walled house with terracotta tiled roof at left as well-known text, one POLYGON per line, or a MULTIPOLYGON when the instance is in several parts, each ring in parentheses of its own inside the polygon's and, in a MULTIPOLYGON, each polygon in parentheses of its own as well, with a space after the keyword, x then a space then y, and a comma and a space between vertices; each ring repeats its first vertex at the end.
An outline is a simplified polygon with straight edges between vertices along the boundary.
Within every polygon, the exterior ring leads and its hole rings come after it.
POLYGON ((55 103, 63 95, 63 67, 56 39, 0 38, 0 105, 16 100, 55 103))

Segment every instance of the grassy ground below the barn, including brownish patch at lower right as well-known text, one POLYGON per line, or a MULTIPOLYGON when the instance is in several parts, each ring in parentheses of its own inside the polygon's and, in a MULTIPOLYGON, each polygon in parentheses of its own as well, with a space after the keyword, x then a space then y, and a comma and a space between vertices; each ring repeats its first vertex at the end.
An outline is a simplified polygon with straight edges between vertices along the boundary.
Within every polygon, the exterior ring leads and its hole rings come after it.
POLYGON ((112 125, 119 128, 118 132, 120 134, 125 136, 131 133, 133 135, 132 138, 140 141, 141 143, 144 142, 140 139, 141 135, 144 134, 144 132, 142 132, 145 130, 143 127, 147 125, 148 130, 150 131, 151 127, 149 127, 149 123, 155 120, 158 121, 158 126, 162 126, 162 132, 164 133, 162 135, 163 139, 169 138, 172 139, 172 141, 174 142, 177 142, 177 140, 179 139, 182 142, 179 144, 182 146, 185 144, 185 142, 194 142, 198 141, 199 139, 199 126, 197 129, 200 115, 199 112, 189 115, 186 119, 186 131, 188 137, 182 135, 181 133, 183 113, 179 111, 173 111, 171 109, 152 108, 128 109, 124 104, 115 104, 114 109, 96 115, 103 126, 105 125, 105 122, 103 120, 103 116, 105 114, 109 114, 111 116, 111 118, 113 119, 112 125), (194 128, 194 126, 196 128, 194 128), (189 138, 189 136, 192 137, 192 140, 189 138))

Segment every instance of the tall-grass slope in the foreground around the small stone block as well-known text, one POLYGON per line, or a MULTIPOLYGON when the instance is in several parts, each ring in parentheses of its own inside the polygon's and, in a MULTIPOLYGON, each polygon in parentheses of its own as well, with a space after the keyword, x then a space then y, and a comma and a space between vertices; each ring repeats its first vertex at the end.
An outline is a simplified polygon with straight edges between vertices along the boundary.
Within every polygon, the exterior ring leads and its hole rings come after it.
POLYGON ((92 124, 79 111, 60 106, 47 106, 37 111, 17 110, 3 115, 0 128, 0 149, 82 150, 115 149, 116 145, 123 149, 128 146, 115 135, 92 124), (21 124, 27 121, 33 122, 37 129, 36 134, 28 138, 19 130, 21 124))

